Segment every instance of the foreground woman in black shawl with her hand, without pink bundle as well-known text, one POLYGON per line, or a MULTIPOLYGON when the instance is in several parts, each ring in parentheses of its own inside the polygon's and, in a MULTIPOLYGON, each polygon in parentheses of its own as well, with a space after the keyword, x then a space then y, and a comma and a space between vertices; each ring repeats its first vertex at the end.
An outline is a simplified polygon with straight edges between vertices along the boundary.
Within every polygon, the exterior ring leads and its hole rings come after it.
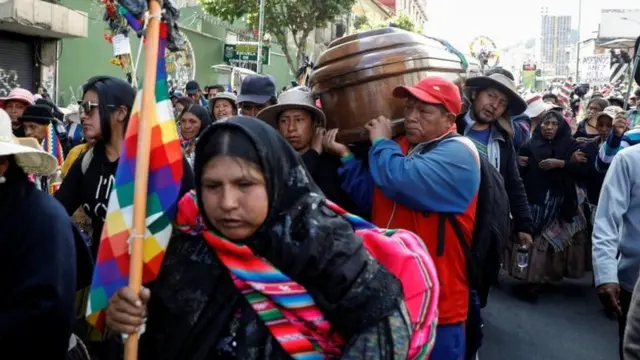
POLYGON ((148 315, 141 359, 407 357, 398 279, 322 205, 274 129, 241 116, 212 125, 194 171, 196 191, 176 220, 183 234, 171 239, 159 277, 139 297, 120 289, 107 308, 117 333, 136 332, 148 315), (280 277, 291 280, 275 296, 280 277))

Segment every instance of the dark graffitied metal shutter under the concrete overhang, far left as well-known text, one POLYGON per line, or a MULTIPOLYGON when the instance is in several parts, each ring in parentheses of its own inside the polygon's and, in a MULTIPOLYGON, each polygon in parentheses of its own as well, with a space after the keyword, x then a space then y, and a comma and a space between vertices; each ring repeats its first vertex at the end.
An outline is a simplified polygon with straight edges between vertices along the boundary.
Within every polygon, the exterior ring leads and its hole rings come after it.
POLYGON ((0 32, 0 49, 0 97, 15 87, 35 92, 33 38, 0 32))

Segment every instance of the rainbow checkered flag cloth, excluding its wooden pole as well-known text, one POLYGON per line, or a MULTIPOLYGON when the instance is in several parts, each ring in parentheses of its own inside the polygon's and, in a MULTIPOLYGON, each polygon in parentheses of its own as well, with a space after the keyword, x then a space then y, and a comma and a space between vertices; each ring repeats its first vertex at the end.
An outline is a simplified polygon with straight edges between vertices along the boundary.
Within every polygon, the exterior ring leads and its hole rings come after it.
MULTIPOLYGON (((152 124, 143 284, 154 280, 160 271, 171 237, 183 175, 182 148, 167 90, 164 62, 166 34, 166 25, 162 24, 156 86, 155 89, 147 89, 155 91, 156 106, 145 109, 151 112, 152 124)), ((109 299, 118 289, 129 283, 129 238, 133 229, 133 193, 141 95, 142 92, 138 92, 127 127, 89 293, 87 320, 99 330, 104 328, 104 310, 109 299)))

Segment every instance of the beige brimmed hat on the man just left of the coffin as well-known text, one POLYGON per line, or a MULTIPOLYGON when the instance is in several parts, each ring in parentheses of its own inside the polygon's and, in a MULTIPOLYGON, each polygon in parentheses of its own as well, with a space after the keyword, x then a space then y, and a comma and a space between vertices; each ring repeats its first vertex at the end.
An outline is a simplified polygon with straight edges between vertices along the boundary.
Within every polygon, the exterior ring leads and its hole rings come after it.
POLYGON ((283 92, 278 96, 278 103, 276 105, 271 105, 263 109, 256 117, 275 127, 278 124, 278 116, 280 116, 283 111, 289 109, 306 110, 318 125, 323 127, 327 125, 327 118, 322 110, 316 106, 311 90, 304 86, 297 86, 283 92))

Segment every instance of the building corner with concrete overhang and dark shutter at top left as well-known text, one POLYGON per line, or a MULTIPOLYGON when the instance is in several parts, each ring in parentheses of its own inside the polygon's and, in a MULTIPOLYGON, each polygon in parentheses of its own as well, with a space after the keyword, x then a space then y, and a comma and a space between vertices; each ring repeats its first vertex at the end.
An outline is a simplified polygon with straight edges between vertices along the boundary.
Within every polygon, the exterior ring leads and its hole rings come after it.
POLYGON ((15 87, 55 97, 61 40, 86 36, 86 14, 57 1, 0 1, 0 97, 15 87))

